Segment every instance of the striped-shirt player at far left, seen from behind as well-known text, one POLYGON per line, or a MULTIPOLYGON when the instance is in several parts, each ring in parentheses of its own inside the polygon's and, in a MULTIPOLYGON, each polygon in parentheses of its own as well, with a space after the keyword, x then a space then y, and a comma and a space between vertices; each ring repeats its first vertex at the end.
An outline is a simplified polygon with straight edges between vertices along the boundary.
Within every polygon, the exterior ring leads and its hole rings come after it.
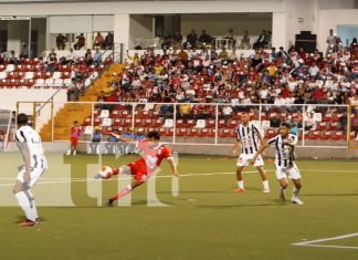
POLYGON ((19 168, 18 179, 12 191, 27 216, 20 226, 29 227, 39 223, 34 197, 30 189, 48 168, 48 162, 43 154, 40 135, 28 125, 29 117, 25 114, 19 114, 17 122, 15 141, 24 166, 19 168))

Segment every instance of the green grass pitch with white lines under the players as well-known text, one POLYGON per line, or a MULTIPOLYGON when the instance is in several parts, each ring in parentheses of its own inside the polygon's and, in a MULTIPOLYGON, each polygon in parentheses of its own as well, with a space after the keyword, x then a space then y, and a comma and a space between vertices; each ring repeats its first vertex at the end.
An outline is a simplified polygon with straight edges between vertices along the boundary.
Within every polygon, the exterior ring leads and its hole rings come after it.
MULTIPOLYGON (((21 209, 7 205, 15 202, 11 178, 17 176, 21 158, 19 154, 0 156, 2 260, 358 259, 358 237, 319 243, 338 248, 293 246, 358 232, 356 160, 298 159, 305 205, 296 206, 277 199, 273 163, 266 160, 265 165, 271 194, 261 193, 253 167, 246 168, 245 193, 234 194, 233 157, 179 155, 179 195, 172 196, 171 178, 165 177, 170 176, 166 162, 156 179, 156 196, 166 206, 148 206, 148 187, 143 186, 133 193, 130 207, 106 208, 97 206, 97 199, 86 193, 87 185, 102 185, 104 201, 118 190, 122 180, 85 181, 95 174, 98 157, 52 154, 48 158, 50 168, 33 189, 36 200, 73 205, 40 206, 43 221, 20 228, 17 221, 21 220, 21 209)), ((116 166, 135 158, 102 159, 116 166)), ((292 184, 289 196, 291 190, 292 184)))

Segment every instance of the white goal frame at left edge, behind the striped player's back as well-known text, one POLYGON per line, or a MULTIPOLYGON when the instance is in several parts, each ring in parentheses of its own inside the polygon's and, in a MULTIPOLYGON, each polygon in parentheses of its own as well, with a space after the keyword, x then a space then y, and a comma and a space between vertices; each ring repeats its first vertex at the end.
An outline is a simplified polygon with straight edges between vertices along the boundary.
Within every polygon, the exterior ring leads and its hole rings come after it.
POLYGON ((15 128, 12 111, 0 110, 0 150, 7 152, 15 128))

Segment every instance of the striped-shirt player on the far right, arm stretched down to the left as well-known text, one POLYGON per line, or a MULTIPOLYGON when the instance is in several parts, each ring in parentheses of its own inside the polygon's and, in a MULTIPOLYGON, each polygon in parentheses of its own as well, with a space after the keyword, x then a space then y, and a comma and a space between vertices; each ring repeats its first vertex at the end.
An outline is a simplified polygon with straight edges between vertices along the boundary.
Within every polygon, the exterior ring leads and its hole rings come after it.
POLYGON ((254 164, 260 154, 263 153, 270 145, 276 148, 275 168, 276 177, 280 183, 280 197, 285 200, 285 189, 287 188, 287 177, 292 179, 294 184, 292 202, 303 205, 303 201, 298 198, 299 190, 302 188, 301 174, 295 164, 295 145, 297 144, 297 136, 289 134, 289 123, 282 123, 280 126, 280 134, 271 138, 267 143, 264 143, 255 154, 252 163, 254 164))

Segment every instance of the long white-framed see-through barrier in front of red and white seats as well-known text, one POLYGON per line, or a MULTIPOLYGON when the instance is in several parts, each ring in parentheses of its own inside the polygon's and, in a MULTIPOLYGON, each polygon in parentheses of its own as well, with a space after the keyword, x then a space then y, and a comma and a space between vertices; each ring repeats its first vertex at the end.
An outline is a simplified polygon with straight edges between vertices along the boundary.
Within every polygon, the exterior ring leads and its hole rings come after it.
MULTIPOLYGON (((25 110, 19 102, 19 112, 25 110)), ((43 102, 34 102, 36 106, 43 102)), ((65 105, 72 105, 69 116, 82 124, 83 141, 91 139, 95 127, 101 127, 106 137, 112 132, 124 133, 134 127, 138 133, 158 131, 162 141, 171 144, 231 144, 235 139, 235 127, 243 111, 249 111, 251 121, 264 138, 277 134, 282 122, 291 122, 298 145, 302 147, 348 147, 356 132, 350 129, 351 112, 347 105, 240 105, 220 103, 92 103, 92 102, 49 102, 45 115, 32 115, 36 131, 41 131, 43 121, 53 121, 52 132, 61 127, 70 131, 71 124, 59 122, 57 112, 65 105), (308 118, 312 117, 312 118, 308 118), (349 119, 348 119, 349 117, 349 119), (308 127, 308 121, 313 126, 308 127), (67 124, 67 125, 66 125, 67 124)), ((31 111, 25 110, 27 114, 31 111)), ((66 142, 67 136, 54 135, 52 142, 66 142)))

